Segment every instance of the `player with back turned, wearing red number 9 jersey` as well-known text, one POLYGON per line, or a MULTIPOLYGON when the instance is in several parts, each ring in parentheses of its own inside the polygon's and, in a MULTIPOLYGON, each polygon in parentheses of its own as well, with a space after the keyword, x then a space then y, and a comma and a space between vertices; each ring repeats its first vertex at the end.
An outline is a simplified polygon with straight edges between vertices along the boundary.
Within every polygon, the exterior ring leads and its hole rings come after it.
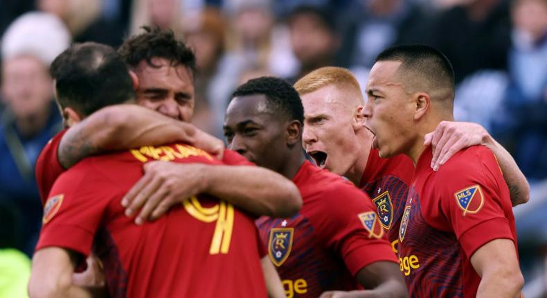
MULTIPOLYGON (((60 106, 70 103, 78 117, 134 98, 127 66, 109 46, 71 46, 51 69, 60 106)), ((260 262, 265 252, 253 218, 231 204, 199 195, 150 225, 134 225, 124 216, 120 200, 151 160, 189 163, 195 173, 225 167, 204 150, 174 143, 89 157, 66 170, 46 202, 31 297, 86 297, 71 275, 92 246, 111 297, 266 296, 260 262)))

